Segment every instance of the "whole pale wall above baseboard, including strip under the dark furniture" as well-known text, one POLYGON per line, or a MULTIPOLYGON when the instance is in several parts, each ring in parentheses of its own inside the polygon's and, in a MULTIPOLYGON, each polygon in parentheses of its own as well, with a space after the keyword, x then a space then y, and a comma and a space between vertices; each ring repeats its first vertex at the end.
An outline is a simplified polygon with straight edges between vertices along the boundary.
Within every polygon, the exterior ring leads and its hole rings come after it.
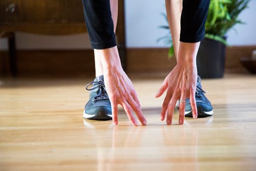
MULTIPOLYGON (((128 48, 168 47, 157 38, 167 34, 167 30, 159 29, 166 25, 160 15, 165 12, 164 0, 125 0, 126 45, 128 48)), ((249 9, 241 13, 246 25, 237 25, 238 34, 228 33, 230 45, 256 45, 256 1, 251 0, 249 9)), ((17 49, 88 49, 90 48, 88 34, 69 36, 42 36, 17 33, 17 49)), ((8 49, 7 40, 0 39, 0 50, 8 49)))

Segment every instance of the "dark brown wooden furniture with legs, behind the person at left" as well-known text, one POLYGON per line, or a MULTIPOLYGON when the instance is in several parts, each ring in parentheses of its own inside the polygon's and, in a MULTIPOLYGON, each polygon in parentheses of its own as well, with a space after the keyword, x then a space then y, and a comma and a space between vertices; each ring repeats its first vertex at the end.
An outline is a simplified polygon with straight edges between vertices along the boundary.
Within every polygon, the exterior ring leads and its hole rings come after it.
MULTIPOLYGON (((119 54, 125 68, 124 3, 118 1, 116 30, 119 54)), ((81 0, 1 0, 0 36, 9 39, 10 68, 18 74, 15 32, 65 35, 87 32, 81 0)))

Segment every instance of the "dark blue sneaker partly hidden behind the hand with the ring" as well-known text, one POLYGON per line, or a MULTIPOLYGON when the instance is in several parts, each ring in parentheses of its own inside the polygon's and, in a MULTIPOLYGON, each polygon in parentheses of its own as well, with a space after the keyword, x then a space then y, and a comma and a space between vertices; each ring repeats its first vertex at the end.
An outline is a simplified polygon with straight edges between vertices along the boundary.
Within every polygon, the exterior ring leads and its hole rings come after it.
MULTIPOLYGON (((210 101, 204 95, 205 93, 206 92, 202 89, 201 78, 197 76, 196 103, 197 117, 199 118, 212 116, 214 114, 210 101)), ((177 102, 176 106, 179 108, 179 102, 177 102)), ((185 116, 193 117, 189 98, 186 99, 185 116)))

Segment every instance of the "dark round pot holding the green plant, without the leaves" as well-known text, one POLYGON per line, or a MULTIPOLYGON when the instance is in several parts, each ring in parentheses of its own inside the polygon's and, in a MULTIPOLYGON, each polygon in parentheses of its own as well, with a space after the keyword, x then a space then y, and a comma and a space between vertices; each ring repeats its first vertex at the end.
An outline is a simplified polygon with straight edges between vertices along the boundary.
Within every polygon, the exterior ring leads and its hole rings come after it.
POLYGON ((222 78, 225 70, 226 46, 204 38, 197 54, 197 71, 201 78, 222 78))

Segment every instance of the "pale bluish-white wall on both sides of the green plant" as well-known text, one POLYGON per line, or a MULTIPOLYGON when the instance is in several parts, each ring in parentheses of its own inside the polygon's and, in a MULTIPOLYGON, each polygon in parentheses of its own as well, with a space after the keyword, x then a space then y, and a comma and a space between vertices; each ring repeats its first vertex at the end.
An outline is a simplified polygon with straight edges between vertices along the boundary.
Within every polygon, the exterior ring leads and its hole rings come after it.
MULTIPOLYGON (((126 0, 126 45, 129 48, 166 47, 163 42, 156 43, 158 37, 166 31, 158 29, 165 25, 165 19, 160 15, 165 12, 164 0, 126 0)), ((256 1, 251 0, 249 8, 240 14, 240 19, 246 25, 237 25, 238 32, 230 30, 227 34, 230 45, 256 45, 256 1)))

